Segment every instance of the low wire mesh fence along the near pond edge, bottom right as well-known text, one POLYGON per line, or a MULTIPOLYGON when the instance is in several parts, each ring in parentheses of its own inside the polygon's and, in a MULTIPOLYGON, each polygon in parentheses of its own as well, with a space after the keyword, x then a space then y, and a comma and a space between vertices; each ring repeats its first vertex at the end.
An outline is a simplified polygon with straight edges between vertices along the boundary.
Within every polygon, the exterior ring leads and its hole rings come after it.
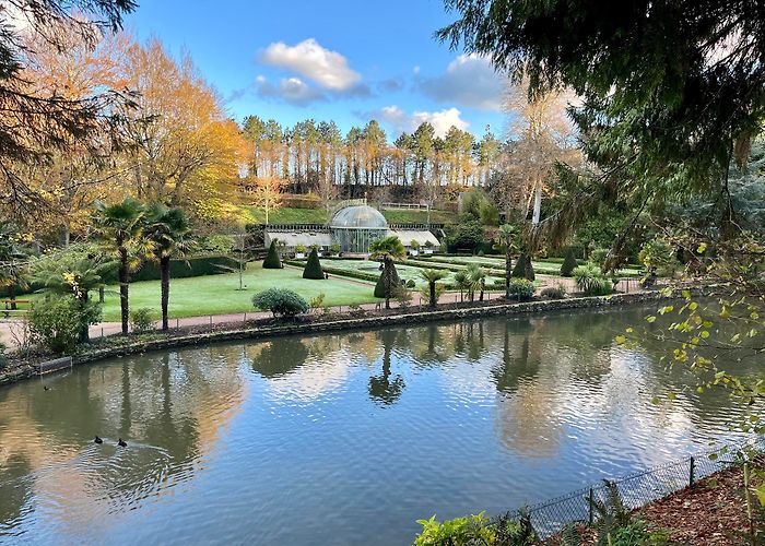
MULTIPOLYGON (((699 479, 730 467, 743 449, 763 447, 761 441, 729 444, 608 482, 616 486, 626 508, 637 509, 685 487, 693 487, 699 479)), ((596 523, 593 501, 605 502, 608 492, 609 486, 601 482, 527 507, 525 511, 537 534, 546 538, 569 523, 596 523)), ((521 511, 518 511, 520 515, 521 511)))

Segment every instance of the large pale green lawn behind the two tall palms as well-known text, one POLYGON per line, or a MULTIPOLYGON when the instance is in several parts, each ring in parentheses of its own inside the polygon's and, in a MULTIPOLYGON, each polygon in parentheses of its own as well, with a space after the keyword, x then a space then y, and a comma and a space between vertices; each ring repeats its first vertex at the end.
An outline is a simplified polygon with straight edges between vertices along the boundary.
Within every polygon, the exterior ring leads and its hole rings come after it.
MULTIPOLYGON (((261 262, 250 263, 244 275, 244 290, 238 290, 238 273, 207 275, 170 281, 170 318, 198 317, 255 311, 251 298, 267 288, 290 288, 306 301, 326 295, 325 306, 365 304, 377 301, 374 284, 331 277, 327 281, 303 278, 303 270, 286 266, 283 270, 264 270, 261 262)), ((40 297, 35 295, 33 297, 40 297)), ((91 297, 97 298, 97 294, 91 297)), ((160 317, 160 281, 130 283, 130 309, 148 307, 160 317)), ((119 289, 109 286, 104 302, 104 320, 119 321, 119 289)))

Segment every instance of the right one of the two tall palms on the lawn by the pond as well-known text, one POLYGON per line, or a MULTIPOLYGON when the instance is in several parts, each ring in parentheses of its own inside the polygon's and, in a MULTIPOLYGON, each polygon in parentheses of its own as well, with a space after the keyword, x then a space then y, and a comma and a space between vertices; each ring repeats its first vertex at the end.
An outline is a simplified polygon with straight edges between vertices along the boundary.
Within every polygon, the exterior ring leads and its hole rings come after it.
POLYGON ((149 257, 160 264, 162 330, 169 328, 167 305, 170 297, 170 259, 184 256, 191 242, 191 223, 180 209, 153 203, 146 210, 143 235, 150 244, 149 257))

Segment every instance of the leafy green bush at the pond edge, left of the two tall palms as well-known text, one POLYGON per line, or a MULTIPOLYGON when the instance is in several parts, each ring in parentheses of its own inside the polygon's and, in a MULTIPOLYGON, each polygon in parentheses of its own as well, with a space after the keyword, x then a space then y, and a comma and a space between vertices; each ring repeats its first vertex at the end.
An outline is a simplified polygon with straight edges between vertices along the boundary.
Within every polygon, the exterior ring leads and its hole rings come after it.
POLYGON ((28 314, 30 336, 56 354, 71 353, 81 334, 101 320, 101 306, 73 296, 49 296, 35 302, 28 314))

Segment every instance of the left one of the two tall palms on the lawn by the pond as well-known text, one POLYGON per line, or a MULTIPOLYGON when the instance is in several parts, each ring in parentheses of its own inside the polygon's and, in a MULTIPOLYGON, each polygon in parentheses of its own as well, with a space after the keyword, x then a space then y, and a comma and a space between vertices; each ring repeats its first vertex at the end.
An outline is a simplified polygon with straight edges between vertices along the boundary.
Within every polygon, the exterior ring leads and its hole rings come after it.
POLYGON ((117 254, 119 269, 119 308, 122 319, 122 334, 128 333, 130 307, 128 305, 128 286, 130 284, 130 250, 139 242, 143 225, 144 209, 132 198, 125 198, 121 203, 107 205, 95 202, 93 227, 105 249, 117 254))

